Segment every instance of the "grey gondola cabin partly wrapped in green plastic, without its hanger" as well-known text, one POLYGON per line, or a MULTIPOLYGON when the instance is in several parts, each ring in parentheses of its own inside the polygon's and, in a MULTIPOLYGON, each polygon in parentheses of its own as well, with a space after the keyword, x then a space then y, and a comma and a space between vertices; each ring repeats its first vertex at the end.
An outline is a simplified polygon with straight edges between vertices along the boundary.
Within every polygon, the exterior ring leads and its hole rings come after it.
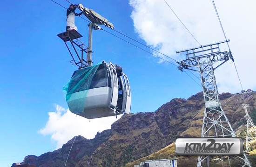
POLYGON ((88 119, 130 114, 131 91, 128 77, 117 76, 115 65, 102 61, 74 71, 64 87, 71 112, 88 119))

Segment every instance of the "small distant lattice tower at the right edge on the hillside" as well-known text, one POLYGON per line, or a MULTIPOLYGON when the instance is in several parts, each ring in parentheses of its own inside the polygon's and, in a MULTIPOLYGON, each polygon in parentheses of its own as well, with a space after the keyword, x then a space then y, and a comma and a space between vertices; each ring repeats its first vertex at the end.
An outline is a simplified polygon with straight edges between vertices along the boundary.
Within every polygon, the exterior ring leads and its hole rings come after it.
POLYGON ((249 104, 242 104, 241 105, 245 111, 245 117, 247 121, 247 128, 246 128, 246 147, 245 152, 249 152, 251 148, 251 144, 256 142, 256 126, 254 125, 251 117, 249 116, 247 107, 249 104))

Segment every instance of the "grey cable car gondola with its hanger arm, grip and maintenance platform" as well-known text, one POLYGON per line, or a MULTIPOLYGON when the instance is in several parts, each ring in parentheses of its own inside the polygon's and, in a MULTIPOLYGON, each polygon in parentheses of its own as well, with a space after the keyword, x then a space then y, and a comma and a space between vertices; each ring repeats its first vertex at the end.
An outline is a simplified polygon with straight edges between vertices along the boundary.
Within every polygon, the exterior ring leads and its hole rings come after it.
POLYGON ((63 89, 69 110, 88 119, 115 116, 124 112, 130 114, 131 90, 128 77, 120 70, 116 71, 111 62, 108 64, 102 61, 93 65, 92 61, 93 29, 103 30, 99 25, 114 29, 113 24, 82 4, 75 7, 92 23, 88 24, 88 46, 79 40, 82 35, 76 29, 58 34, 65 42, 74 64, 79 66, 79 70, 74 71, 71 80, 63 89), (72 47, 67 45, 68 42, 72 47), (78 59, 75 59, 75 55, 78 59))

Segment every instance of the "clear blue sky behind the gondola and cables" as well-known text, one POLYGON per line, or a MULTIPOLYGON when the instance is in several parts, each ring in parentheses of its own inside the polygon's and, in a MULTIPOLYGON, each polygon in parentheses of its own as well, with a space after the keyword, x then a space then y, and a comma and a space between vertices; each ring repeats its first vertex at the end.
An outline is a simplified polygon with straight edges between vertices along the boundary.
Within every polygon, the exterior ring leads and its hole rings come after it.
MULTIPOLYGON (((65 0, 56 1, 63 6, 69 6, 65 0)), ((143 44, 156 46, 143 33, 135 32, 135 29, 138 31, 140 27, 134 26, 135 20, 131 18, 134 8, 129 5, 128 0, 73 0, 72 2, 82 3, 100 13, 114 24, 117 31, 143 44)), ((10 2, 2 0, 2 4, 10 4, 10 2)), ((50 0, 14 0, 11 9, 10 7, 2 9, 2 13, 6 14, 2 17, 0 27, 1 167, 22 161, 28 154, 40 155, 56 148, 56 142, 51 140, 51 135, 42 135, 39 130, 48 121, 47 113, 56 110, 55 104, 67 109, 62 88, 77 69, 68 62, 71 57, 63 41, 57 37, 57 34, 64 32, 66 28, 64 8, 50 0)), ((168 15, 171 17, 172 13, 168 15)), ((212 15, 214 16, 214 13, 212 15)), ((75 22, 84 37, 83 41, 87 43, 88 22, 79 17, 76 17, 75 22)), ((190 25, 191 21, 187 23, 190 25)), ((155 24, 161 27, 158 25, 160 23, 155 24)), ((175 22, 175 25, 179 23, 175 22)), ((107 27, 103 28, 113 32, 107 27)), ((181 45, 177 49, 197 46, 186 30, 182 27, 178 28, 185 34, 190 45, 181 45)), ((143 28, 141 30, 143 31, 143 28)), ((221 34, 220 29, 219 32, 221 34)), ((232 36, 232 34, 228 35, 232 36)), ((221 35, 219 37, 223 40, 221 35)), ((165 43, 160 41, 159 44, 165 43)), ((145 49, 150 51, 148 48, 145 49)), ((178 71, 174 65, 159 63, 158 58, 106 32, 100 30, 93 32, 93 51, 95 63, 106 60, 123 67, 131 85, 132 113, 155 111, 172 98, 188 98, 201 91, 201 87, 185 73, 178 71)), ((166 50, 164 52, 169 56, 176 56, 175 52, 166 50)))

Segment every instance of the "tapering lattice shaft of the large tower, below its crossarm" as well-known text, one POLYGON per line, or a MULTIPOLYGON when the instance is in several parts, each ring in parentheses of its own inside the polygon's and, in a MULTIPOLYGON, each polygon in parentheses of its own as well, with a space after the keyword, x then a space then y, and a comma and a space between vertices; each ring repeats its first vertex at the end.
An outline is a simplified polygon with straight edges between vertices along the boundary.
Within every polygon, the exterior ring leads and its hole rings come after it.
MULTIPOLYGON (((198 60, 197 64, 200 69, 205 102, 201 137, 236 137, 236 133, 220 103, 211 59, 209 58, 208 61, 202 63, 198 60)), ((197 167, 202 167, 203 161, 209 167, 209 158, 209 156, 199 156, 197 167)), ((241 167, 252 167, 246 154, 235 156, 234 160, 242 161, 243 165, 241 167)))

